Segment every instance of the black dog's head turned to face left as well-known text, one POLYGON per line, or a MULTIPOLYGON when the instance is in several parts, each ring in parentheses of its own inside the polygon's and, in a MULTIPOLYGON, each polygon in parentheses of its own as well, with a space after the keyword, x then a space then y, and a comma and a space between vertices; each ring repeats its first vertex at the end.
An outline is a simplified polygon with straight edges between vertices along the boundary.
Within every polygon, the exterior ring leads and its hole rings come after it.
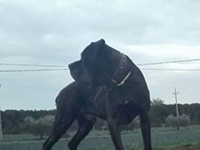
POLYGON ((69 65, 72 77, 94 86, 105 85, 118 64, 115 53, 116 50, 106 45, 103 39, 92 42, 81 53, 81 59, 69 65))

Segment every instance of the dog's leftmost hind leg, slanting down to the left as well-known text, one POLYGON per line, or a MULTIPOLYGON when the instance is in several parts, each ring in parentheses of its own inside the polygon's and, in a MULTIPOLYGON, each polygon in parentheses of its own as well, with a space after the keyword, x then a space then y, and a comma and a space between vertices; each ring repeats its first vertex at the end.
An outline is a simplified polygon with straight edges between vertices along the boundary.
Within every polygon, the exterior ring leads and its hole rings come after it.
POLYGON ((48 137, 48 139, 44 142, 42 150, 50 150, 53 147, 53 145, 67 131, 67 129, 70 127, 74 119, 75 118, 71 118, 71 117, 62 118, 62 120, 56 119, 54 122, 53 131, 51 135, 48 137))

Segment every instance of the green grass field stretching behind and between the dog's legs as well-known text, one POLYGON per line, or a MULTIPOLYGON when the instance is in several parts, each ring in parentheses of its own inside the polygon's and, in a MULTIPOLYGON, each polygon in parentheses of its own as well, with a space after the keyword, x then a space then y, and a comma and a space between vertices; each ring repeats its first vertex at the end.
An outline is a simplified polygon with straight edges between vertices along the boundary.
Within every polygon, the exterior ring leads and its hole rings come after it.
MULTIPOLYGON (((40 150, 43 141, 35 140, 31 135, 7 135, 0 143, 0 150, 40 150), (18 137, 17 137, 18 136, 18 137), (31 140, 34 139, 34 140, 31 140)), ((123 132, 122 139, 125 149, 142 149, 143 142, 140 131, 137 133, 123 132)), ((67 149, 69 139, 61 139, 52 150, 67 149)), ((154 149, 188 148, 200 145, 200 126, 190 126, 175 131, 174 128, 152 128, 152 145, 154 149)), ((95 131, 82 141, 79 150, 113 150, 113 144, 107 131, 95 131)), ((197 149, 200 149, 197 147, 197 149)), ((196 149, 195 149, 196 150, 196 149)))

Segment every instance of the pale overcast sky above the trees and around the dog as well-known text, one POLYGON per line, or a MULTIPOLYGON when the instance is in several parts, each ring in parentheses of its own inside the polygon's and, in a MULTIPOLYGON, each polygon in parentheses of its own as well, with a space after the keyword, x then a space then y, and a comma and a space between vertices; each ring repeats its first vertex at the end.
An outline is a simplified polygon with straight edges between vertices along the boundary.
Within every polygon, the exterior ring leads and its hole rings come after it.
MULTIPOLYGON (((199 6, 199 0, 1 0, 0 63, 67 66, 100 38, 136 64, 200 59, 199 6)), ((179 103, 200 102, 200 71, 143 69, 200 69, 200 61, 140 68, 152 98, 172 104, 176 87, 179 103)), ((0 72, 1 108, 54 109, 72 81, 67 70, 0 72)))

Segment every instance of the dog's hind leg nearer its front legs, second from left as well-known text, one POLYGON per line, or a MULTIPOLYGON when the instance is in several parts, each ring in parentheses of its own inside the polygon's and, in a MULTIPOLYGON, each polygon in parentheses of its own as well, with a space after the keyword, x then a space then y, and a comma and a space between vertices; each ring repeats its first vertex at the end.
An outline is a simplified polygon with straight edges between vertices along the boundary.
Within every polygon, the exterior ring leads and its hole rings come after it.
POLYGON ((74 137, 69 141, 68 147, 70 150, 77 150, 79 143, 88 135, 92 130, 96 117, 87 118, 82 116, 78 119, 78 130, 74 137))

